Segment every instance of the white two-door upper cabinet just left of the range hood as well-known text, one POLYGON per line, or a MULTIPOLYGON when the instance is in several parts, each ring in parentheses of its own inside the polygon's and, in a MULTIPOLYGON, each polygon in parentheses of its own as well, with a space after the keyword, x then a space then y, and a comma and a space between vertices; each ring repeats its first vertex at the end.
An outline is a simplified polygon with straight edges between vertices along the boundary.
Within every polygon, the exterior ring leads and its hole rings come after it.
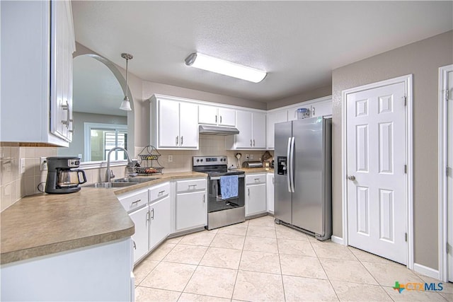
POLYGON ((161 95, 151 98, 151 145, 198 149, 198 105, 161 95))

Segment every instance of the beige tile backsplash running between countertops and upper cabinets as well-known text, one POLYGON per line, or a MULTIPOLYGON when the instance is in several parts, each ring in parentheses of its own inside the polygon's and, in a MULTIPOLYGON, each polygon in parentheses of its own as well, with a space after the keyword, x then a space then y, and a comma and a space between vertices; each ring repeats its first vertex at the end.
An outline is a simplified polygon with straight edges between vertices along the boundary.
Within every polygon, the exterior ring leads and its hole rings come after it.
MULTIPOLYGON (((134 149, 137 158, 143 148, 134 149)), ((163 173, 192 170, 193 156, 228 156, 228 165, 236 166, 235 154, 242 154, 241 163, 246 161, 246 154, 253 156, 250 161, 259 161, 265 151, 229 151, 225 150, 225 137, 200 134, 199 150, 159 150, 159 164, 163 173), (168 161, 168 156, 173 161, 168 161)), ((273 155, 273 151, 270 152, 273 155)), ((11 206, 22 197, 37 194, 38 185, 44 190, 47 170, 40 169, 40 158, 57 156, 56 147, 24 147, 19 144, 1 144, 0 146, 0 211, 11 206), (21 158, 25 160, 25 170, 21 173, 21 158)), ((105 180, 105 168, 84 168, 87 183, 105 180)), ((116 178, 124 177, 125 166, 112 167, 116 178)))

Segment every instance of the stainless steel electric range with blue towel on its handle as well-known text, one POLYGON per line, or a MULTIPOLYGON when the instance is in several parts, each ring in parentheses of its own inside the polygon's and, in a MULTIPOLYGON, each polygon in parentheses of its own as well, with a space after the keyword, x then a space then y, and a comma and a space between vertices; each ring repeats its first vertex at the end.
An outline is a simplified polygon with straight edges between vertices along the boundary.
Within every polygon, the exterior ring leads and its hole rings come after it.
POLYGON ((194 156, 192 170, 207 173, 207 229, 220 228, 246 220, 245 175, 243 171, 228 170, 226 156, 194 156), (222 199, 221 178, 237 175, 237 196, 222 199))

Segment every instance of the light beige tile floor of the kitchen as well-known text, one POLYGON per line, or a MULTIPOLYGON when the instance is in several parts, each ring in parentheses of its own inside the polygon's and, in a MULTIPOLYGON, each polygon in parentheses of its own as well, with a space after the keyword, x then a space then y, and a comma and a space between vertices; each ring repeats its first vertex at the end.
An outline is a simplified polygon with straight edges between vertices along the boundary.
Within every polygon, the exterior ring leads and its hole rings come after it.
POLYGON ((451 283, 399 294, 395 281, 440 281, 271 216, 166 240, 134 274, 137 301, 453 301, 451 283))

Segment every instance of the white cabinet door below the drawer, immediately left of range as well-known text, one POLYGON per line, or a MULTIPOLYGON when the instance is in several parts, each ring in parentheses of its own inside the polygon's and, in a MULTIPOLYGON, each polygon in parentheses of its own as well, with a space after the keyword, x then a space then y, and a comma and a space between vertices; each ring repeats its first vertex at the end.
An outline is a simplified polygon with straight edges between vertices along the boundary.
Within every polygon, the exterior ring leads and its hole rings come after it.
POLYGON ((176 195, 176 230, 205 226, 207 222, 206 192, 176 195))

